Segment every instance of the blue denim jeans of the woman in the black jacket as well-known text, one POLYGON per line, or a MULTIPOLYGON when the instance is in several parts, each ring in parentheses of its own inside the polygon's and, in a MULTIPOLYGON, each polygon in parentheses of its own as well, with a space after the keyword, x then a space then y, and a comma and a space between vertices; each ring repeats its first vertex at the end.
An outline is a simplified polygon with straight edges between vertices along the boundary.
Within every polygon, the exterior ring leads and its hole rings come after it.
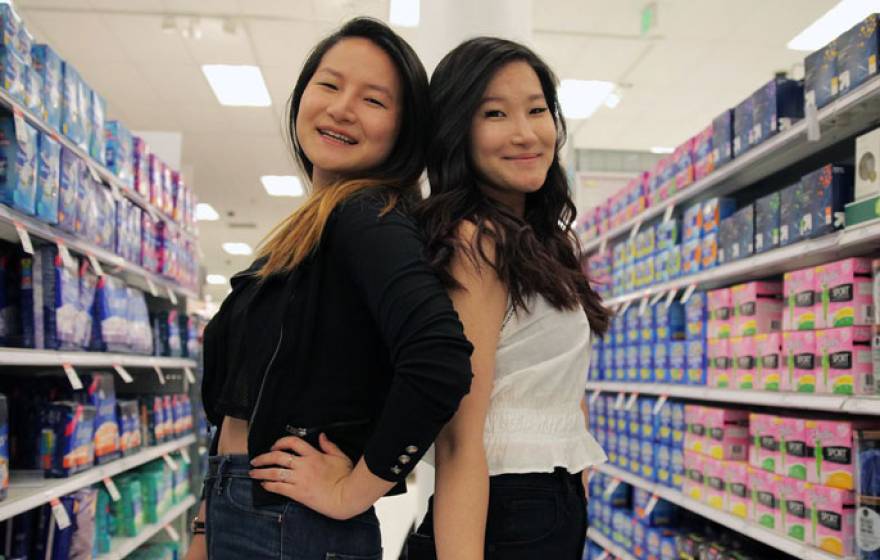
POLYGON ((337 521, 294 501, 253 505, 246 455, 211 457, 205 480, 208 558, 381 560, 379 520, 370 508, 337 521))

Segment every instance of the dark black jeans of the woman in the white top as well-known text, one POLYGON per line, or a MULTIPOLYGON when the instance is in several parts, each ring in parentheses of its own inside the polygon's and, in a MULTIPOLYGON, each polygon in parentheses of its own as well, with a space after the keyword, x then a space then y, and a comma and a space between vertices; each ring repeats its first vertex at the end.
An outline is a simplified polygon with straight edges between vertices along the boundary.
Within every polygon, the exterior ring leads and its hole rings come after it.
MULTIPOLYGON (((587 513, 581 475, 503 474, 489 479, 486 560, 581 560, 587 513)), ((434 499, 419 529, 407 539, 408 560, 437 558, 434 499)))

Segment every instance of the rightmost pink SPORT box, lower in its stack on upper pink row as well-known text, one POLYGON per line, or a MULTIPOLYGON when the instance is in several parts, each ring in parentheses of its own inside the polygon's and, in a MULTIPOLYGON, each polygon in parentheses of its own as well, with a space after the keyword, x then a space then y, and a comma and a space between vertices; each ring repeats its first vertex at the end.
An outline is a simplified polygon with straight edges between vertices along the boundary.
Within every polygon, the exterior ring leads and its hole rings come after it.
POLYGON ((875 394, 871 327, 839 327, 816 332, 821 356, 819 386, 835 395, 875 394))

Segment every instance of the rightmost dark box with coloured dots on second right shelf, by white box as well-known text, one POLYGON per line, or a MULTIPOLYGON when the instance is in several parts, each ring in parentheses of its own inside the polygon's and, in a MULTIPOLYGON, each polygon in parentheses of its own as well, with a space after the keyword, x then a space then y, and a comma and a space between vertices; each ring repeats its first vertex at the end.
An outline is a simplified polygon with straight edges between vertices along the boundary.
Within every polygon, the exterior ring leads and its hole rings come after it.
POLYGON ((819 237, 843 227, 844 206, 853 199, 851 167, 824 165, 801 177, 800 186, 808 205, 801 233, 819 237))

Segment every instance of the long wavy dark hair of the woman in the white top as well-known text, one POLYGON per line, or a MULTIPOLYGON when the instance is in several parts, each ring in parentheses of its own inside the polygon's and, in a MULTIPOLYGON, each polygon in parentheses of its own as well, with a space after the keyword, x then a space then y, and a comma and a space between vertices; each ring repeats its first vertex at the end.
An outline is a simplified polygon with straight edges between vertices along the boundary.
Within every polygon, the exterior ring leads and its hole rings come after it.
POLYGON ((447 54, 431 76, 434 127, 427 154, 431 196, 419 206, 417 217, 425 230, 430 262, 447 286, 458 287, 449 272, 456 250, 475 262, 479 255, 507 286, 515 309, 525 309, 527 297, 541 294, 557 309, 581 306, 592 330, 603 335, 609 312, 581 270, 580 246, 572 230, 576 208, 559 163, 566 128, 556 83, 553 71, 538 55, 513 41, 477 37, 447 54), (527 63, 537 74, 557 130, 553 163, 541 189, 526 195, 523 218, 481 191, 470 155, 471 122, 484 92, 495 74, 515 61, 527 63), (458 239, 462 220, 476 225, 472 244, 458 239), (494 242, 493 259, 483 251, 484 238, 494 242))

